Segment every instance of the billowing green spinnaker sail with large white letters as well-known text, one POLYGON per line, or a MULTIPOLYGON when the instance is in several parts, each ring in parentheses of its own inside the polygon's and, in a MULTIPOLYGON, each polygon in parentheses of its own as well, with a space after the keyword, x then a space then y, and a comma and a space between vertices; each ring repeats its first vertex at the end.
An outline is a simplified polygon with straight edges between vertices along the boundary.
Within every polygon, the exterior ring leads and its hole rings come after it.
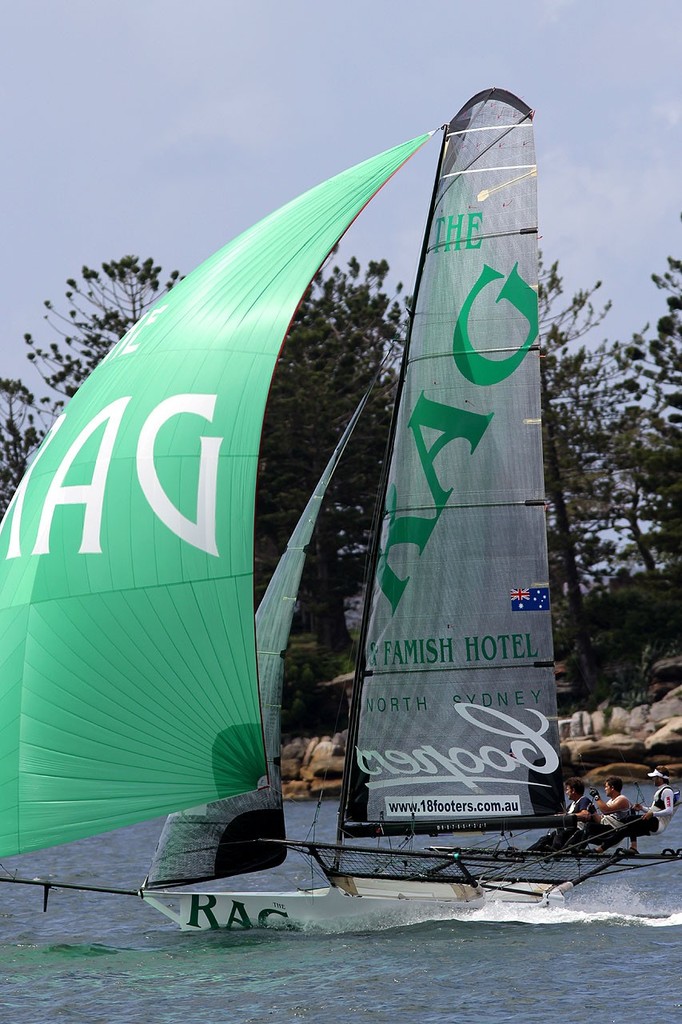
POLYGON ((428 138, 208 259, 43 441, 0 525, 0 855, 258 784, 253 525, 271 375, 310 279, 428 138))

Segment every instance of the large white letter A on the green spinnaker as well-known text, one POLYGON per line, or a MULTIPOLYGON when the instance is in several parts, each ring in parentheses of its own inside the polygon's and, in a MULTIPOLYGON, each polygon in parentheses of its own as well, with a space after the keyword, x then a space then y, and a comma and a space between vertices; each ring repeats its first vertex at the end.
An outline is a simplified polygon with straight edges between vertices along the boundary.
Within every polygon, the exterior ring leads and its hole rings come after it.
POLYGON ((71 445, 66 456, 61 460, 52 482, 45 496, 45 504, 40 516, 38 526, 38 537, 33 549, 34 555, 47 555, 50 550, 50 527, 52 517, 57 505, 84 505, 85 515, 83 517, 83 536, 79 554, 98 555, 101 552, 99 531, 101 527, 101 510, 104 501, 104 486, 106 484, 106 474, 112 461, 114 441, 121 425, 121 417, 126 406, 130 401, 127 398, 117 398, 110 406, 105 406, 101 412, 97 413, 87 427, 81 430, 80 434, 71 445), (65 484, 67 473, 71 469, 76 456, 81 451, 88 438, 95 430, 105 423, 103 436, 97 451, 92 479, 90 483, 65 484))

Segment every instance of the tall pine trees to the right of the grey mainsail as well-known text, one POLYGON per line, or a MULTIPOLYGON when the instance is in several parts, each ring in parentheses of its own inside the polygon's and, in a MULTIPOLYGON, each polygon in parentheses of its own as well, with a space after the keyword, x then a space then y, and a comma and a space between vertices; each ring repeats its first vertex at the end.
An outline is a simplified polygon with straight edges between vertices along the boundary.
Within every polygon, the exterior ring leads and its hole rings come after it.
MULTIPOLYGON (((679 283, 671 261, 665 287, 678 312, 679 283)), ((608 310, 593 305, 598 287, 565 303, 556 264, 541 275, 555 639, 584 693, 616 684, 634 692, 651 652, 672 652, 682 631, 673 579, 682 466, 671 413, 680 349, 670 316, 649 342, 595 344, 608 310)))

